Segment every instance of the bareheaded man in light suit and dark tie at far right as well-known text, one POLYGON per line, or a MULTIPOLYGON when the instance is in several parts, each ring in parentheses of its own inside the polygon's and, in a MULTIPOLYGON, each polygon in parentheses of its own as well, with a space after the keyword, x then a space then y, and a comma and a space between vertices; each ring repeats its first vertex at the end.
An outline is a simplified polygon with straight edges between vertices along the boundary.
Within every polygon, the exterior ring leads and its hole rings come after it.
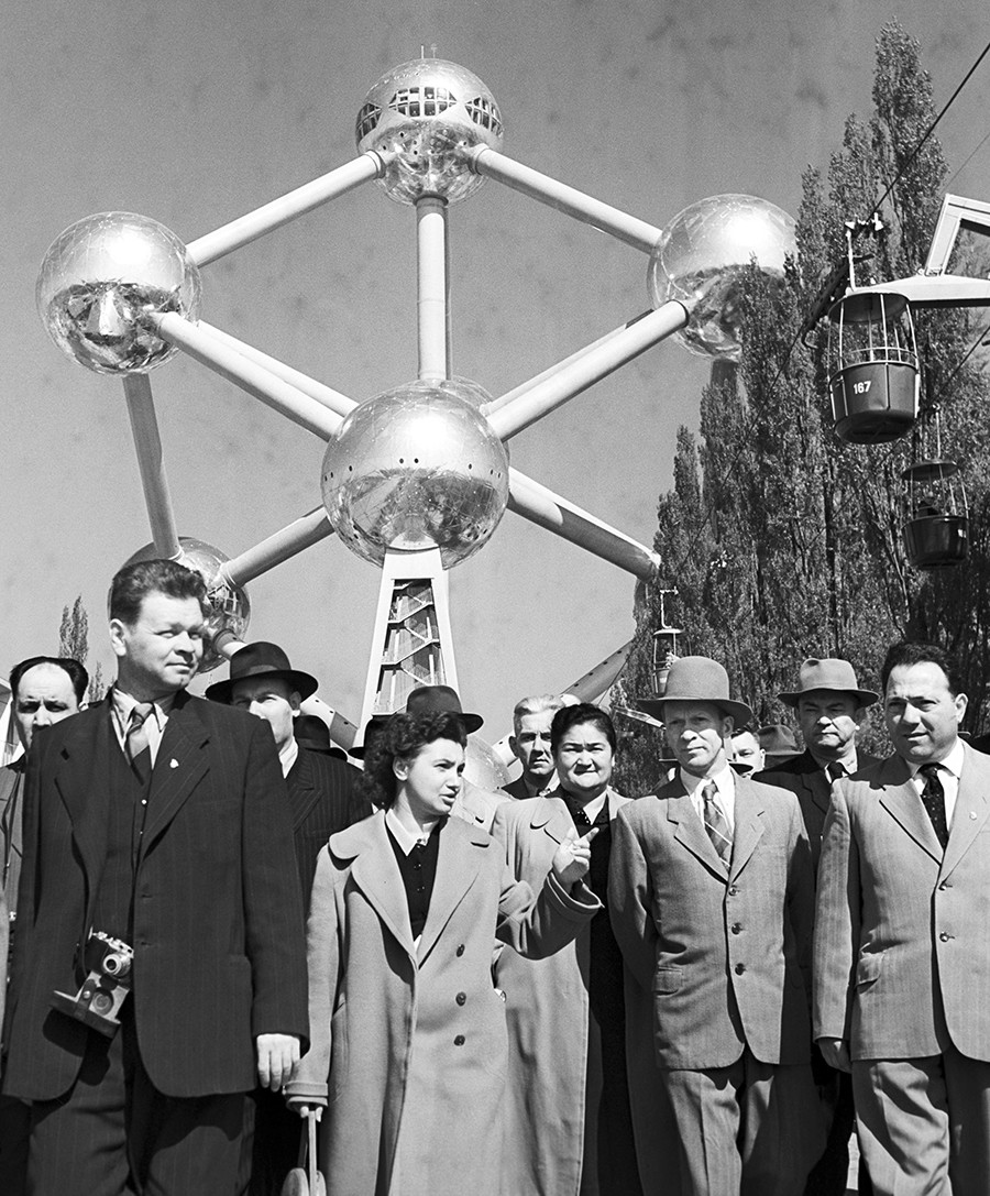
POLYGON ((990 1177, 990 761, 941 648, 881 673, 896 755, 841 781, 825 823, 815 1036, 851 1070, 874 1190, 985 1192, 990 1177))

